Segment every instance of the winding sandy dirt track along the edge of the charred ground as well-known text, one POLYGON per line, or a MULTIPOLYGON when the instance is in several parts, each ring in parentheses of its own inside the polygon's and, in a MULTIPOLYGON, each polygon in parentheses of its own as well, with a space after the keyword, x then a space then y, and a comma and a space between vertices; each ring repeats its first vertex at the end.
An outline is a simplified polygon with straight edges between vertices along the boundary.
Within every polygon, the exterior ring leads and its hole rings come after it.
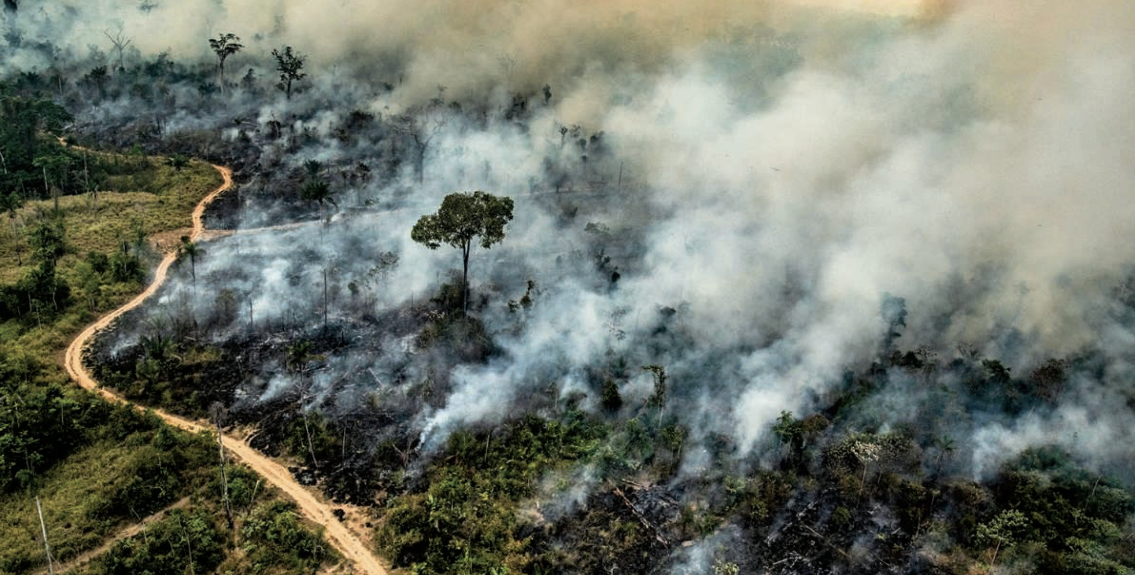
MULTIPOLYGON (((204 234, 205 229, 202 218, 204 215, 205 206, 209 205, 213 198, 233 186, 232 170, 221 166, 213 166, 213 168, 217 168, 217 171, 220 172, 225 181, 193 209, 193 232, 190 235, 192 240, 197 240, 199 238, 204 239, 202 234, 204 234)), ((166 256, 161 260, 161 263, 158 264, 153 282, 145 288, 145 291, 138 294, 137 297, 132 299, 126 305, 103 315, 99 319, 99 321, 87 325, 87 328, 84 329, 74 341, 72 341, 70 346, 67 347, 67 352, 64 355, 64 366, 67 369, 67 373, 70 374, 72 379, 78 382, 78 384, 84 389, 94 391, 109 401, 120 404, 127 403, 124 398, 112 391, 99 387, 99 382, 91 377, 91 373, 87 372, 86 367, 83 365, 83 350, 86 349, 87 345, 90 345, 91 340, 94 339, 95 335, 107 329, 124 313, 142 305, 148 297, 153 295, 153 293, 157 291, 158 288, 166 281, 166 273, 169 271, 169 265, 173 264, 176 259, 176 251, 166 254, 166 256)), ((209 430, 209 428, 204 424, 195 423, 169 413, 158 409, 154 409, 153 413, 170 425, 190 432, 195 433, 209 430)), ((312 492, 312 490, 308 490, 296 483, 296 481, 292 477, 292 474, 288 473, 284 466, 269 459, 268 457, 264 457, 244 441, 229 436, 222 436, 222 439, 225 447, 234 456, 236 456, 237 459, 244 462, 245 465, 263 475, 269 483, 276 485, 277 489, 294 499, 300 507, 300 511, 305 517, 322 525, 326 529, 323 534, 327 536, 327 540, 335 547, 335 549, 338 549, 339 552, 347 558, 347 560, 354 564, 358 573, 386 575, 386 569, 384 569, 378 563, 378 559, 371 555, 370 550, 367 549, 367 546, 364 546, 354 533, 352 533, 343 523, 331 515, 331 507, 321 501, 320 498, 312 492)))

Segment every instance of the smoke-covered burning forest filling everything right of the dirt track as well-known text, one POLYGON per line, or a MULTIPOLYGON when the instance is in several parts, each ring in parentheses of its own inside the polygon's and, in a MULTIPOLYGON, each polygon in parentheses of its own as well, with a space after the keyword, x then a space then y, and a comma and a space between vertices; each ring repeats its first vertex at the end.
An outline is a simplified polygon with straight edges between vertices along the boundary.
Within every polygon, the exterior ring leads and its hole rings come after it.
MULTIPOLYGON (((232 167, 86 362, 393 566, 1135 569, 1121 2, 102 3, 6 3, 0 196, 232 167)), ((11 220, 5 319, 95 307, 11 220)))

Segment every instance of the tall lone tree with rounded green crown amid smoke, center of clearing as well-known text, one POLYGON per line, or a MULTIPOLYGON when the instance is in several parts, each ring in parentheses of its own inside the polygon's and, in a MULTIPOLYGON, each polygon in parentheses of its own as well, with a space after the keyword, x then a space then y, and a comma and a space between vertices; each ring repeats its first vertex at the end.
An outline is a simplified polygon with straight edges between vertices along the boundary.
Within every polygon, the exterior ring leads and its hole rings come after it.
POLYGON ((488 250, 504 239, 504 226, 512 220, 512 198, 485 192, 445 196, 437 213, 422 215, 410 230, 410 239, 437 250, 448 244, 461 250, 461 308, 469 311, 469 254, 473 238, 488 250))

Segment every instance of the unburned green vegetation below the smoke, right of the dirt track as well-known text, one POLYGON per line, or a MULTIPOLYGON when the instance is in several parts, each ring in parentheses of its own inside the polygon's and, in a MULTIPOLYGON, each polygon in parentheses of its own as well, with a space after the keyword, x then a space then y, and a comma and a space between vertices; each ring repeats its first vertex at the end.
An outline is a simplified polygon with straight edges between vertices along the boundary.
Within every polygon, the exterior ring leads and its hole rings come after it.
MULTIPOLYGON (((998 377, 989 369, 968 384, 1015 396, 998 377)), ((772 470, 739 467, 721 438, 706 468, 678 473, 688 430, 666 417, 659 426, 647 406, 631 418, 569 408, 459 432, 387 501, 377 542, 396 565, 437 574, 657 573, 659 553, 703 538, 738 543, 714 551, 723 573, 776 561, 797 573, 823 573, 809 563, 865 574, 1135 568, 1129 487, 1054 448, 1027 450, 989 481, 949 473, 952 440, 916 425, 861 431, 849 399, 886 378, 857 378, 822 413, 782 414, 772 470), (571 501, 580 481, 594 491, 571 501)))

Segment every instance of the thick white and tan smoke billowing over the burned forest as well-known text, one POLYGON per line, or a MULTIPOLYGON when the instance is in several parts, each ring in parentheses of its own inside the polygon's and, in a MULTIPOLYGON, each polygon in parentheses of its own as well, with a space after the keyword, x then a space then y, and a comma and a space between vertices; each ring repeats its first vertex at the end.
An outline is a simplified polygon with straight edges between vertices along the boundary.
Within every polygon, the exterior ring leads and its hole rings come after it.
MULTIPOLYGON (((507 239, 473 261, 474 290, 494 297, 480 313, 501 353, 454 367, 445 404, 417 414, 427 447, 459 425, 503 421, 549 386, 586 391, 587 370, 622 354, 636 372, 667 367, 693 440, 726 433, 739 456, 759 457, 782 411, 816 408, 846 370, 878 360, 880 302, 894 294, 909 310, 903 346, 952 358, 965 343, 1015 373, 1086 348, 1104 358, 1052 409, 943 423, 972 438, 968 472, 990 473, 1041 442, 1101 466, 1135 458, 1118 440, 1135 421, 1125 401, 1135 354, 1113 298, 1135 261, 1130 2, 246 0, 142 12, 92 1, 25 2, 6 18, 25 44, 52 37, 81 57, 92 44, 111 54, 106 32, 120 29, 140 57, 171 50, 205 68, 205 40, 234 32, 246 49, 228 69, 261 78, 275 75, 271 48, 310 54, 306 92, 252 117, 260 130, 279 118, 312 137, 260 142, 261 171, 375 155, 365 141, 334 136, 352 109, 393 117, 438 98, 482 110, 473 120, 443 107, 437 121, 421 120, 432 138, 422 184, 402 166, 388 181, 338 192, 345 206, 385 211, 219 239, 197 271, 222 282, 258 254, 234 289, 259 294, 255 318, 285 321, 310 308, 325 268, 337 270, 340 291, 363 277, 375 264, 356 255, 364 244, 401 256, 375 301, 392 310, 428 298, 455 265, 452 253, 407 240, 418 215, 453 191, 514 196, 507 239), (528 98, 527 125, 502 117, 513 94, 528 98), (581 151, 558 132, 571 125, 585 141, 602 137, 581 151), (573 174, 566 200, 548 162, 573 174), (578 210, 568 223, 564 203, 578 210), (597 247, 612 259, 602 273, 597 247), (300 248, 310 257, 294 259, 300 248), (541 293, 518 328, 504 302, 529 279, 541 293), (674 337, 659 337, 662 325, 674 337)), ((52 65, 26 45, 9 43, 7 56, 9 69, 52 65)), ((178 112, 177 126, 235 130, 201 107, 178 112)), ((129 109, 124 96, 85 118, 129 109)), ((278 222, 277 208, 245 204, 242 226, 278 222)), ((168 291, 167 302, 201 314, 215 305, 187 284, 168 291)), ((393 377, 388 356, 336 362, 393 377)), ((648 374, 623 392, 644 401, 648 374)), ((881 390, 891 407, 883 425, 917 418, 919 394, 881 390)), ((689 470, 700 454, 689 450, 689 470)))

